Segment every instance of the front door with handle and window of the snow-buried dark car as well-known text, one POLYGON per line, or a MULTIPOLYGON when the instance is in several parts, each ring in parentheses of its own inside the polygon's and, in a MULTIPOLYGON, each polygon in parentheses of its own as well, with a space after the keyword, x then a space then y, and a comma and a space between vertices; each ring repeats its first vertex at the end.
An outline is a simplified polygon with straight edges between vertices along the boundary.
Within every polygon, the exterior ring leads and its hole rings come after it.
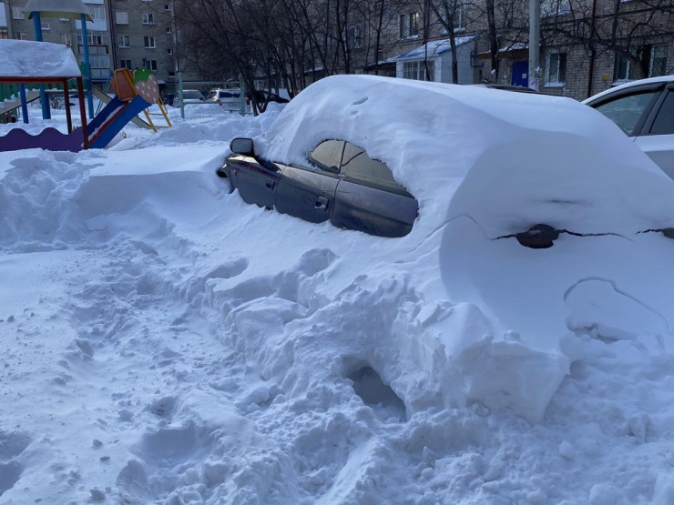
POLYGON ((326 140, 311 152, 311 167, 281 166, 276 210, 311 223, 330 219, 344 143, 326 140))

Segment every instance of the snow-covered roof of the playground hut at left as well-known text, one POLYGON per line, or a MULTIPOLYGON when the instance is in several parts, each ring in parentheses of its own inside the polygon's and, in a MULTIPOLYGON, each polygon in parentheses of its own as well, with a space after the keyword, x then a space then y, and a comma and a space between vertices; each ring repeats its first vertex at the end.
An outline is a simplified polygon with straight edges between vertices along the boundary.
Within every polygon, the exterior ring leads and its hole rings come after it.
POLYGON ((79 76, 77 60, 67 45, 0 39, 0 78, 79 76))

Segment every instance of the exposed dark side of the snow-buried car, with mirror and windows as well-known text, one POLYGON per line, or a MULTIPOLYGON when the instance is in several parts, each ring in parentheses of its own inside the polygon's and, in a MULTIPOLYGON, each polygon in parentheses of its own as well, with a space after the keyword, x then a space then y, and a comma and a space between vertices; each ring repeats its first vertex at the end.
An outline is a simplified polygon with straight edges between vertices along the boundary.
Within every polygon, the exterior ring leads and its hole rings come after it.
POLYGON ((311 223, 330 221, 380 237, 403 237, 414 225, 418 203, 383 162, 359 146, 321 141, 303 165, 256 157, 250 138, 235 138, 220 177, 250 204, 276 208, 311 223))

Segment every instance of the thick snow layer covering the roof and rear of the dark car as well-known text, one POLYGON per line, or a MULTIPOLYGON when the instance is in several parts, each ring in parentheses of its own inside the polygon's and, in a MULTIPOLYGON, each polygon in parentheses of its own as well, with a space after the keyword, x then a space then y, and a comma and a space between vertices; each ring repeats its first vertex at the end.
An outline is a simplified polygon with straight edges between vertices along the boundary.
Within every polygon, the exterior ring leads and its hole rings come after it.
POLYGON ((255 150, 301 164, 332 138, 381 159, 417 198, 413 235, 459 215, 487 237, 536 223, 633 232, 674 218, 674 181, 618 126, 565 97, 331 76, 295 97, 255 150))

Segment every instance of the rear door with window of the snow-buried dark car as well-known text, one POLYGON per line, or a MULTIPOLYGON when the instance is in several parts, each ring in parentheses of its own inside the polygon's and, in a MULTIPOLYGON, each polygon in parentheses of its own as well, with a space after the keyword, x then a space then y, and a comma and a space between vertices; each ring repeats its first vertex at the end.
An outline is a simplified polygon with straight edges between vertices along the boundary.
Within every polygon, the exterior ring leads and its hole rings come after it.
POLYGON ((381 161, 346 142, 331 221, 336 227, 380 237, 403 237, 412 231, 418 203, 381 161))

